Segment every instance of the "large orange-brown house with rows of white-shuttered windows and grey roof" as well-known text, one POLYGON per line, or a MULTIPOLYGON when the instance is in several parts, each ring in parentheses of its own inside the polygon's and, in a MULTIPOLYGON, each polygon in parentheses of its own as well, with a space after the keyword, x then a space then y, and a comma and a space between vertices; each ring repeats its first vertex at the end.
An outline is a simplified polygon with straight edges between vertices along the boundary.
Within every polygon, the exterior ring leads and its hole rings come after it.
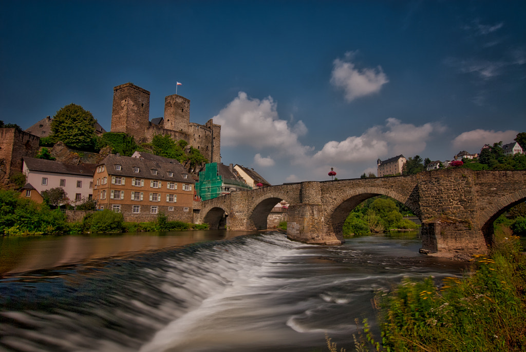
POLYGON ((194 180, 177 160, 110 154, 97 165, 93 182, 97 208, 122 213, 125 221, 155 221, 160 213, 170 221, 193 220, 194 180))

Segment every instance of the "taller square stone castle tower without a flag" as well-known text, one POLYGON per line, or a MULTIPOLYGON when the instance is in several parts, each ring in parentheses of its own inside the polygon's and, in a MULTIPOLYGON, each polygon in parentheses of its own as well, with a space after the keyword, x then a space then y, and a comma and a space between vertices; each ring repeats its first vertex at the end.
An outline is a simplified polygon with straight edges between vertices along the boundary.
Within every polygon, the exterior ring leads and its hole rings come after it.
POLYGON ((112 132, 124 132, 140 142, 149 125, 150 92, 132 83, 113 88, 112 132))

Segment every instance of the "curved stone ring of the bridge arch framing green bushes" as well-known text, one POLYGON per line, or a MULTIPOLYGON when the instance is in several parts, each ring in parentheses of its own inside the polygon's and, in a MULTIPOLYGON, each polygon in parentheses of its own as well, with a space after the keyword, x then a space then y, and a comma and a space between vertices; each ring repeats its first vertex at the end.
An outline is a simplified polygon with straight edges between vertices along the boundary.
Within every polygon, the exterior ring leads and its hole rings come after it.
POLYGON ((420 209, 410 202, 408 196, 403 196, 392 189, 382 187, 362 187, 350 189, 343 193, 334 200, 332 205, 327 209, 327 218, 325 221, 328 232, 336 235, 338 239, 342 239, 343 224, 351 210, 364 200, 379 195, 391 197, 404 204, 420 219, 420 209))

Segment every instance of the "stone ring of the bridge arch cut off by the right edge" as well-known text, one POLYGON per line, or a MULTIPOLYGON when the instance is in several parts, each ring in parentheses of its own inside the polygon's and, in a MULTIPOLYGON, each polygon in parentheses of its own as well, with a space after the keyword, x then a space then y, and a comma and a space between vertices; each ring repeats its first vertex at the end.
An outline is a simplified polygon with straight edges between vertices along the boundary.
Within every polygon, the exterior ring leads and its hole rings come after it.
POLYGON ((485 208, 480 215, 479 224, 487 245, 493 244, 493 222, 515 205, 526 202, 526 189, 501 197, 485 208))

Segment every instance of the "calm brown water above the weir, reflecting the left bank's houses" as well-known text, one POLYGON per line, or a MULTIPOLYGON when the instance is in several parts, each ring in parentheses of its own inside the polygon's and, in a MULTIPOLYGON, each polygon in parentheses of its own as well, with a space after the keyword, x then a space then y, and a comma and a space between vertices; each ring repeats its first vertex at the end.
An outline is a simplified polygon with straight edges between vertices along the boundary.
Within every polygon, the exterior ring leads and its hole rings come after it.
POLYGON ((187 230, 130 234, 0 238, 0 275, 121 257, 192 243, 247 235, 249 231, 187 230))

